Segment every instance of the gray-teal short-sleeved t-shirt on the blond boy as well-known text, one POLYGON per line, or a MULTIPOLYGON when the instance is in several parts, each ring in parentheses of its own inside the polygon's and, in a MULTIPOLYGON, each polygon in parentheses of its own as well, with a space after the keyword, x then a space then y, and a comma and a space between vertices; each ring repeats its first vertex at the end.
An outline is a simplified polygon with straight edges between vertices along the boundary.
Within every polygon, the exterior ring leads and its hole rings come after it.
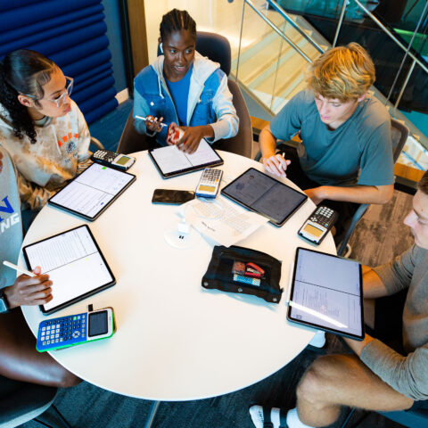
POLYGON ((391 118, 374 96, 367 95, 350 119, 329 130, 319 117, 313 92, 306 89, 285 104, 270 129, 281 140, 300 131, 300 166, 320 185, 394 183, 391 118))

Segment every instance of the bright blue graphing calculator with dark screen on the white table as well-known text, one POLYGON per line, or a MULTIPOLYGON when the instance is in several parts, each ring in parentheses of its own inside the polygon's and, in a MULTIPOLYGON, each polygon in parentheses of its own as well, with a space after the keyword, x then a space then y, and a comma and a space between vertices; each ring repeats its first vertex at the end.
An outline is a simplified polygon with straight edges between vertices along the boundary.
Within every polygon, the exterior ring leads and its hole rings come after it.
POLYGON ((39 352, 59 350, 80 343, 111 337, 114 317, 111 308, 51 318, 38 325, 36 348, 39 352))

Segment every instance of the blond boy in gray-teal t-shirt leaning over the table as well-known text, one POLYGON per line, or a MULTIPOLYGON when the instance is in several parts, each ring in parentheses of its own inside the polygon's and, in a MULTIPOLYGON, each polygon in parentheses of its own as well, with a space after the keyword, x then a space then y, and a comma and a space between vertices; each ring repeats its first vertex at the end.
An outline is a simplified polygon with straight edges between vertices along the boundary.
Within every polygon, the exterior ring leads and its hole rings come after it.
POLYGON ((367 91, 374 64, 357 43, 326 51, 309 67, 308 89, 294 95, 259 136, 265 168, 287 176, 316 204, 339 211, 336 243, 359 203, 393 193, 391 118, 367 91), (297 151, 276 139, 300 132, 297 151))

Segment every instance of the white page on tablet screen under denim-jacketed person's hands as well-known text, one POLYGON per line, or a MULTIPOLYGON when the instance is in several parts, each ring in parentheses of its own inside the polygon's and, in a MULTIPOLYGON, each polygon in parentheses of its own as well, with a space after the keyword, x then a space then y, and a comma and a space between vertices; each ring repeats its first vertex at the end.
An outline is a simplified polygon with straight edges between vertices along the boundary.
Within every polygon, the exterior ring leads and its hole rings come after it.
POLYGON ((168 145, 151 152, 154 161, 158 164, 163 174, 169 174, 183 169, 192 169, 200 165, 206 165, 220 161, 217 152, 202 138, 198 150, 192 154, 185 153, 177 148, 177 145, 168 145))

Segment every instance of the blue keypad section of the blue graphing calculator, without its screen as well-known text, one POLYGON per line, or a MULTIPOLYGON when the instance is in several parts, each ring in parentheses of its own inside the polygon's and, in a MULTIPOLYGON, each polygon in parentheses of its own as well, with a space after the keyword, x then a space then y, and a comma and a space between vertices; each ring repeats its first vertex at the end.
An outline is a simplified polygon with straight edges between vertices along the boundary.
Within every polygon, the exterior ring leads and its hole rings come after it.
POLYGON ((38 326, 37 350, 86 342, 86 323, 86 313, 42 321, 38 326))

